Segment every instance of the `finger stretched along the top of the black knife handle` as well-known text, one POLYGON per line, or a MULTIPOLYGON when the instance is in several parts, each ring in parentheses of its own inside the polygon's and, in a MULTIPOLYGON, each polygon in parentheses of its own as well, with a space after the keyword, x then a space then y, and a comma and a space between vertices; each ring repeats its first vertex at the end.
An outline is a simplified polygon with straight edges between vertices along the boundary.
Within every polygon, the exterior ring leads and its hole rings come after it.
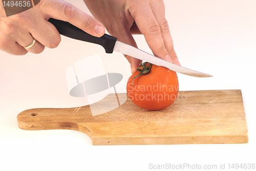
POLYGON ((46 1, 41 9, 49 18, 68 21, 93 36, 101 37, 105 33, 105 28, 97 19, 65 1, 46 1))

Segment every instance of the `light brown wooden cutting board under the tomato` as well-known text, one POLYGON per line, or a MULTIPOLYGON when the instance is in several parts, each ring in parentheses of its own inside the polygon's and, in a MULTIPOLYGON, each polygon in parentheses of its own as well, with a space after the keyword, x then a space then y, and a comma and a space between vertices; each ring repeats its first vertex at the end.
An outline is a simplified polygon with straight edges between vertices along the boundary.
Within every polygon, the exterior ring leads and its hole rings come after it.
MULTIPOLYGON (((109 97, 114 100, 116 94, 109 97)), ((30 109, 17 119, 25 130, 81 131, 94 145, 248 142, 241 90, 180 91, 179 99, 161 111, 144 110, 128 99, 98 116, 83 106, 30 109)))

